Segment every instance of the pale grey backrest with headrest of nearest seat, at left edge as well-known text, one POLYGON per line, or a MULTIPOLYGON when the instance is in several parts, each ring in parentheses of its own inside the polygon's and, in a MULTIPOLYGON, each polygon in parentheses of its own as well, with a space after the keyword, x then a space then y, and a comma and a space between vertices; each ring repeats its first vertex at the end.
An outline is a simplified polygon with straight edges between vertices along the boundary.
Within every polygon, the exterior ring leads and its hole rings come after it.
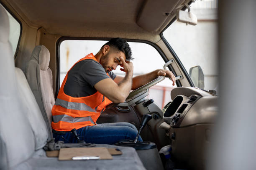
POLYGON ((18 95, 14 57, 9 42, 9 19, 1 5, 0 23, 0 169, 8 169, 28 160, 41 143, 36 144, 38 141, 25 116, 27 108, 20 102, 23 97, 18 95))

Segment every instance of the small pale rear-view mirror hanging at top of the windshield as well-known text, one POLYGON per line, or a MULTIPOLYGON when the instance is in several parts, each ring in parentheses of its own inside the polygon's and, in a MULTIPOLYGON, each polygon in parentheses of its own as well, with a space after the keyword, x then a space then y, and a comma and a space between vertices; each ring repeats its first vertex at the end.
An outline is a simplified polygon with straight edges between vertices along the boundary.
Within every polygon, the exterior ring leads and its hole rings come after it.
POLYGON ((189 25, 197 25, 197 16, 193 13, 186 12, 183 10, 177 10, 176 12, 177 21, 186 23, 189 25))

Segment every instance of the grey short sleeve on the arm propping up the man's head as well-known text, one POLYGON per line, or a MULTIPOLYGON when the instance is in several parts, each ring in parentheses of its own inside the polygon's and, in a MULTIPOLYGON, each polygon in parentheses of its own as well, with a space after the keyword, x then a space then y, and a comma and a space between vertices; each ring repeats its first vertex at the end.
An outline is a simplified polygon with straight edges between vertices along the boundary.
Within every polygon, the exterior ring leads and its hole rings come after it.
POLYGON ((79 69, 82 79, 84 79, 92 87, 100 80, 110 78, 102 65, 95 60, 84 60, 81 68, 79 69))

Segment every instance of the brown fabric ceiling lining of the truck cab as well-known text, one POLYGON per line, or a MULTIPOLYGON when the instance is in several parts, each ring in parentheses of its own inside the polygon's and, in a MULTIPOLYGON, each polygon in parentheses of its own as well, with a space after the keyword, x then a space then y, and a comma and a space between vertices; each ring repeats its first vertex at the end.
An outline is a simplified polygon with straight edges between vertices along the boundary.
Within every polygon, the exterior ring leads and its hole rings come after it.
MULTIPOLYGON (((137 0, 133 3, 130 0, 109 0, 108 3, 97 3, 90 0, 74 3, 72 0, 67 0, 61 4, 49 0, 1 1, 8 5, 15 16, 18 16, 19 20, 23 20, 26 25, 34 29, 44 28, 47 33, 52 35, 122 37, 147 40, 153 43, 160 40, 159 32, 150 32, 136 24, 141 7, 148 2, 145 0, 137 0), (70 10, 71 8, 76 10, 70 10)), ((167 0, 164 1, 167 2, 167 0)), ((170 9, 172 8, 170 6, 170 9)), ((161 25, 158 25, 159 27, 161 25)))

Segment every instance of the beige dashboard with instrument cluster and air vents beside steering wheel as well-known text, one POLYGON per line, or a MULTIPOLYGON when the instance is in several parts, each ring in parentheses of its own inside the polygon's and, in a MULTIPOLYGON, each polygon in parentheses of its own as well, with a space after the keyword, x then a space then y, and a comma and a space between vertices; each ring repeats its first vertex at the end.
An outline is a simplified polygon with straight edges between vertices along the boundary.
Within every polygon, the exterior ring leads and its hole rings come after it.
POLYGON ((217 114, 217 96, 195 87, 177 87, 172 90, 174 99, 162 109, 164 121, 172 128, 211 123, 217 114))

